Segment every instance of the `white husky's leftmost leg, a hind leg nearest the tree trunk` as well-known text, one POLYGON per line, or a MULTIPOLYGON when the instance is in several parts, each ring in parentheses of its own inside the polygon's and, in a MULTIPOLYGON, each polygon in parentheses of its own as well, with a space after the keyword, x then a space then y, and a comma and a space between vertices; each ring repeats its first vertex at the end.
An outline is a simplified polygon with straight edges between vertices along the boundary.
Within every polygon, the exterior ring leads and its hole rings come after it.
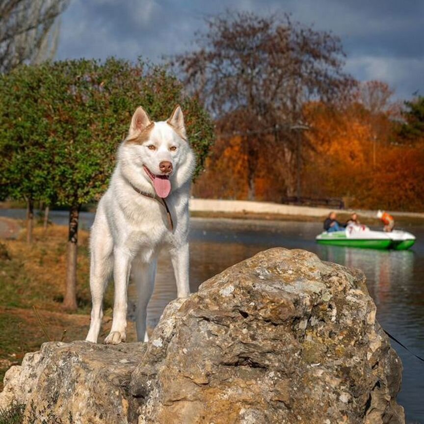
POLYGON ((97 343, 103 318, 103 295, 112 274, 113 256, 112 239, 102 238, 91 243, 90 262, 90 291, 91 291, 91 320, 90 329, 85 340, 97 343))

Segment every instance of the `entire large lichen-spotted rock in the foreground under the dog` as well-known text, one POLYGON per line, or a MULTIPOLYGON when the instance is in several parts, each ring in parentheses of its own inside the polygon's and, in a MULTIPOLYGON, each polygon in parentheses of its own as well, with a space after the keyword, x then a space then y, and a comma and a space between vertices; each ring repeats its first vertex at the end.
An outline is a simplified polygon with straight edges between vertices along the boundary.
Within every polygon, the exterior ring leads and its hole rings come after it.
POLYGON ((53 399, 76 424, 404 423, 364 275, 302 250, 259 253, 171 302, 148 344, 46 349, 24 401, 53 399))

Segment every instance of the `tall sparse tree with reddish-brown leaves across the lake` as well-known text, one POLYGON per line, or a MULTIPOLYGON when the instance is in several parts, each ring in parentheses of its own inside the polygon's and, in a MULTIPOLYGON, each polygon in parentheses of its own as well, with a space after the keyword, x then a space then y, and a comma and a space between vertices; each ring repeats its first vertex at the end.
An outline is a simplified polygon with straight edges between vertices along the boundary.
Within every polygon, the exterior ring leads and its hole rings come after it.
POLYGON ((176 56, 174 65, 218 131, 242 137, 253 198, 255 167, 266 150, 274 155, 268 162, 280 163, 288 178, 294 174, 300 142, 307 143, 305 104, 334 102, 355 81, 344 72, 340 40, 292 22, 290 15, 227 11, 206 22, 208 31, 197 34, 196 48, 176 56), (277 150, 267 149, 276 143, 277 150))

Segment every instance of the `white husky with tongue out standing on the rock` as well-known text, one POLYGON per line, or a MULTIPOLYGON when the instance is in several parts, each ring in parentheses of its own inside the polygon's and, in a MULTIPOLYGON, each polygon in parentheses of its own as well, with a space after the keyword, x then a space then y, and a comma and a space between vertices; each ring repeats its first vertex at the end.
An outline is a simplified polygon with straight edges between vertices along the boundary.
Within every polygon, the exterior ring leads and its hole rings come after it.
POLYGON ((112 275, 113 321, 105 343, 125 341, 130 272, 138 295, 137 339, 147 341, 146 308, 162 247, 171 255, 178 297, 188 296, 188 199, 194 167, 180 106, 166 122, 152 122, 138 107, 91 229, 92 310, 87 341, 97 343, 103 295, 112 275))

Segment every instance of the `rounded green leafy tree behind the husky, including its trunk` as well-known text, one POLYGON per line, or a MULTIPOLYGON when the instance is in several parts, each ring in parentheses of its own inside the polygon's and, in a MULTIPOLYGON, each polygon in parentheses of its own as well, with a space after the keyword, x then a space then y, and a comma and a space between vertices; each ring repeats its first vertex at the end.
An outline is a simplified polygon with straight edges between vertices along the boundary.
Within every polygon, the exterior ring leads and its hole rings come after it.
MULTIPOLYGON (((110 58, 22 66, 0 79, 1 195, 69 207, 64 307, 77 308, 81 205, 107 188, 135 108, 166 119, 179 103, 198 162, 212 144, 208 114, 163 67, 110 58)), ((30 206, 31 207, 31 206, 30 206)))

